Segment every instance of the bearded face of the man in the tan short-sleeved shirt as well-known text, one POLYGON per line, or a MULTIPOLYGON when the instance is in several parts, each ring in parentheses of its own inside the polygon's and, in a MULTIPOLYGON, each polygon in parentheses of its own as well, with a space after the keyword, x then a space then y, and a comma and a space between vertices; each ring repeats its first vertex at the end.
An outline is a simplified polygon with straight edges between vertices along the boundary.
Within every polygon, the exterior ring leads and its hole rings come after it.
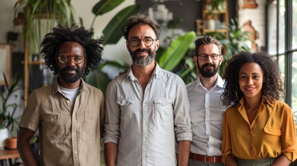
POLYGON ((78 82, 84 74, 86 62, 87 61, 84 57, 84 48, 82 48, 80 44, 77 42, 65 42, 62 44, 57 54, 57 70, 62 79, 62 84, 72 84, 78 82), (69 62, 64 64, 60 62, 58 57, 61 55, 69 55, 69 62), (73 57, 77 57, 78 55, 82 56, 83 60, 80 63, 75 63, 75 58, 73 57))

